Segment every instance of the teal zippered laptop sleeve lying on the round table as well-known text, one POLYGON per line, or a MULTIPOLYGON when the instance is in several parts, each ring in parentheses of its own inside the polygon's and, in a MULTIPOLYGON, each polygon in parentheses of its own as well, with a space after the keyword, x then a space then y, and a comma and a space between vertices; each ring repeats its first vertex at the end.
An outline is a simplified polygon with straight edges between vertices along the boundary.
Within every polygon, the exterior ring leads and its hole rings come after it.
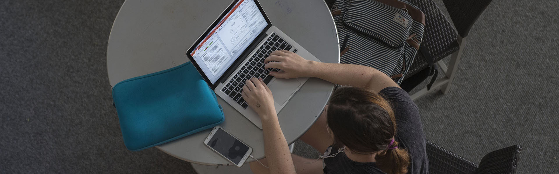
POLYGON ((224 120, 216 95, 191 62, 127 79, 112 89, 124 144, 140 151, 224 120))

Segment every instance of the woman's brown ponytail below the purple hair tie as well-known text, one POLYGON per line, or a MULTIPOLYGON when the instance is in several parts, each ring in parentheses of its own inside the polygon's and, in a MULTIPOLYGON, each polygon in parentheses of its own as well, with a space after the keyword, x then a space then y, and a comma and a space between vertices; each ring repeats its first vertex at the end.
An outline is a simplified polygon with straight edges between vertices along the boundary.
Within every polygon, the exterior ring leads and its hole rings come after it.
MULTIPOLYGON (((397 147, 398 142, 394 142, 392 147, 397 147)), ((408 165, 410 157, 408 151, 401 148, 387 149, 386 151, 377 154, 376 163, 378 168, 388 174, 404 174, 408 172, 408 165)))

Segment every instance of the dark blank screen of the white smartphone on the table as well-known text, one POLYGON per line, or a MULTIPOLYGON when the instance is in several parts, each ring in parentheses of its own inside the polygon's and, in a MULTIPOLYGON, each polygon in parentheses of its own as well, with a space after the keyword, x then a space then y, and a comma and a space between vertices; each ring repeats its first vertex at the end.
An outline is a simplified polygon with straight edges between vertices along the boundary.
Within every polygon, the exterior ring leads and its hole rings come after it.
POLYGON ((239 164, 249 149, 247 145, 221 128, 216 130, 214 136, 211 137, 207 145, 236 165, 239 164))

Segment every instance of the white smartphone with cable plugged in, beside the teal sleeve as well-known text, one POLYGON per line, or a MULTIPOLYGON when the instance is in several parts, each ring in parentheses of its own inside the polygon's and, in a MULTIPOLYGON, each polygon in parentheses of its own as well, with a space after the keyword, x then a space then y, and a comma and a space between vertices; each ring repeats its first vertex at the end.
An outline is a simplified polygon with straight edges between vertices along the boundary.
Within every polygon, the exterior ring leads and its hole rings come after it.
POLYGON ((252 148, 241 142, 221 127, 216 126, 210 135, 204 140, 204 144, 237 167, 243 166, 252 148))

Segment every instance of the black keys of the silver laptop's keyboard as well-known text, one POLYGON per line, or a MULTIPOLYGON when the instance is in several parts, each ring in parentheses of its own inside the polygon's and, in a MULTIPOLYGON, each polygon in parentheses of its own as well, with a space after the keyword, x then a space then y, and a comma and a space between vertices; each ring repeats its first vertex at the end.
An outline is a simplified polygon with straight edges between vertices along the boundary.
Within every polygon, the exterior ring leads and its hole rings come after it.
MULTIPOLYGON (((262 78, 264 83, 268 84, 270 80, 273 79, 273 76, 269 75, 271 71, 280 71, 279 69, 264 69, 264 60, 268 57, 273 51, 276 50, 291 50, 292 46, 289 45, 286 41, 283 40, 280 36, 276 35, 276 33, 272 33, 270 37, 260 46, 258 51, 256 51, 247 62, 236 72, 235 76, 221 89, 225 94, 229 95, 229 97, 236 101, 237 104, 241 105, 244 109, 247 109, 248 104, 245 102, 243 97, 241 96, 241 92, 243 91, 243 86, 245 85, 245 81, 250 78, 262 78)), ((297 50, 293 50, 293 52, 297 52, 297 50)))

